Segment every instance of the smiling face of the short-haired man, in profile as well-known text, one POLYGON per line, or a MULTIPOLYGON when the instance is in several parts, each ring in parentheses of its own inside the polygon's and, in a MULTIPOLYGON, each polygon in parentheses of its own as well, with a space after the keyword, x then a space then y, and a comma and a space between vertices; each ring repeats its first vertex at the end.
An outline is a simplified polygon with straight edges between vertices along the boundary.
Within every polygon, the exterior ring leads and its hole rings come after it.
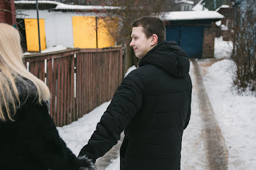
POLYGON ((133 39, 131 39, 130 46, 133 47, 135 56, 138 58, 144 57, 151 49, 151 38, 146 37, 141 26, 133 27, 131 38, 133 39))

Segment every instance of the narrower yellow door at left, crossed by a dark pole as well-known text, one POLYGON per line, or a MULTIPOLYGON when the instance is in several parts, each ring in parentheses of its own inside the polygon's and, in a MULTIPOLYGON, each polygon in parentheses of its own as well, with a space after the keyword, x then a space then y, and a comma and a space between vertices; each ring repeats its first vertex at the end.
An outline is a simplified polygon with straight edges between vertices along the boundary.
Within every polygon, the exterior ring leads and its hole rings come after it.
MULTIPOLYGON (((39 52, 37 19, 24 19, 26 32, 26 46, 28 51, 39 52)), ((46 49, 45 21, 39 19, 41 50, 46 49)))

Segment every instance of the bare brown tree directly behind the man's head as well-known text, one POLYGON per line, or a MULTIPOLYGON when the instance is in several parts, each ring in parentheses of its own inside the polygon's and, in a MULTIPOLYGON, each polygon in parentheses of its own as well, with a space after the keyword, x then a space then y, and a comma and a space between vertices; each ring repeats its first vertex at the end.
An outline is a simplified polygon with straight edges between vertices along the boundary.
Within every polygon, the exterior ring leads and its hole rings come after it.
POLYGON ((129 48, 131 40, 131 24, 135 19, 145 15, 158 15, 166 10, 166 6, 174 0, 99 0, 102 6, 114 6, 115 10, 102 11, 106 14, 102 19, 109 33, 118 45, 125 47, 125 70, 131 65, 137 65, 138 59, 134 57, 129 48))

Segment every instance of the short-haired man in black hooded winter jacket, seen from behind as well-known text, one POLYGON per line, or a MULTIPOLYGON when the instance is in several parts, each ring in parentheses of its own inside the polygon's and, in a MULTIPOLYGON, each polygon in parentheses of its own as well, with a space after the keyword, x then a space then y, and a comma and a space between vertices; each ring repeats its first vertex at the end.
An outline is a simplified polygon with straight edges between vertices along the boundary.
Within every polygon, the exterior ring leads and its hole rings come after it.
POLYGON ((93 162, 120 139, 121 170, 180 169, 181 139, 191 114, 189 60, 175 42, 165 42, 161 19, 133 23, 130 46, 139 68, 123 80, 79 157, 93 162))

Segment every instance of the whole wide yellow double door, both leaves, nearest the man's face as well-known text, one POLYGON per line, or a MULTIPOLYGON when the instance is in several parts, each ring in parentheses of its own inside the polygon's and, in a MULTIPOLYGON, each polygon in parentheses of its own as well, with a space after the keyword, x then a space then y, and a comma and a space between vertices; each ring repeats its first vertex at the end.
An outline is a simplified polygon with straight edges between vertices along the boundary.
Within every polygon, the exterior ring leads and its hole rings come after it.
MULTIPOLYGON (((74 48, 97 48, 95 17, 72 17, 72 24, 74 48)), ((114 38, 110 35, 104 19, 98 18, 97 25, 98 48, 114 46, 114 38)))

